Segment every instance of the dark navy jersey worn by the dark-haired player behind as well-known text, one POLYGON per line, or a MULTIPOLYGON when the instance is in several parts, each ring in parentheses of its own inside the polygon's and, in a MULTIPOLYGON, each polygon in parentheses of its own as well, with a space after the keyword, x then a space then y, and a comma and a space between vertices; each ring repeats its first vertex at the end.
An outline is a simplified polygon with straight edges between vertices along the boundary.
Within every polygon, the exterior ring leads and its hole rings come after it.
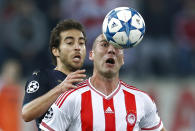
MULTIPOLYGON (((64 73, 54 69, 35 71, 26 83, 23 105, 49 92, 65 78, 66 75, 64 73)), ((45 114, 36 119, 38 129, 44 116, 45 114)))

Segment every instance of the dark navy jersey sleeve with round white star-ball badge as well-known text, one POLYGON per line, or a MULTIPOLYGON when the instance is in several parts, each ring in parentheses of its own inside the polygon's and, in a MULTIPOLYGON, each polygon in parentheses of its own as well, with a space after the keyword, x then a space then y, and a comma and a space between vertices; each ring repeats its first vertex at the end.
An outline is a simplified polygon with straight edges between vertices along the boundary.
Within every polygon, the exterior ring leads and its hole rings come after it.
POLYGON ((46 74, 39 71, 34 72, 26 82, 23 105, 48 92, 47 86, 46 74))

